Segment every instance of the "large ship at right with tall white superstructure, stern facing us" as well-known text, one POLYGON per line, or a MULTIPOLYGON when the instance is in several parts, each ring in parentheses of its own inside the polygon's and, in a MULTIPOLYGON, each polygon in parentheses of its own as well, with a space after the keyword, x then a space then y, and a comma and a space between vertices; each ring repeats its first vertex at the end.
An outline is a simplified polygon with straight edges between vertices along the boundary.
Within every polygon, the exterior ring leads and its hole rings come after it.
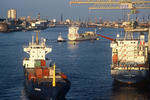
POLYGON ((133 28, 129 25, 125 28, 124 38, 117 35, 117 38, 112 41, 110 45, 112 48, 111 75, 115 80, 127 84, 147 80, 149 76, 148 42, 145 42, 144 31, 148 29, 133 28), (139 34, 139 37, 133 37, 134 34, 139 34))

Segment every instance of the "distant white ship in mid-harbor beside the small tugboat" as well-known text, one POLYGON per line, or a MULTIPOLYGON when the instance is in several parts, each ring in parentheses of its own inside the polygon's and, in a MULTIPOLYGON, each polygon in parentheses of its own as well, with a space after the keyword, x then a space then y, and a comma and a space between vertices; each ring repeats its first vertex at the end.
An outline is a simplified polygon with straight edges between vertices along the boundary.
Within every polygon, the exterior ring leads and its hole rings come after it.
POLYGON ((70 41, 83 41, 83 40, 96 40, 98 36, 92 31, 87 31, 85 33, 78 33, 79 27, 71 26, 68 30, 68 39, 70 41))

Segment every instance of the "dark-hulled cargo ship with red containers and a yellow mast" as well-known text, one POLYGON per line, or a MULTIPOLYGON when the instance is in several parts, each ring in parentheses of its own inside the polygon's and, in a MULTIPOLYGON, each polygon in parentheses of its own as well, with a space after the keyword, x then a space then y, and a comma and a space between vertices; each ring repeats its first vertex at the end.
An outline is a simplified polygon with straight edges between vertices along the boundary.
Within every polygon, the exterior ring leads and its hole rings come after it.
POLYGON ((25 76, 25 90, 30 98, 40 100, 63 100, 70 89, 71 83, 67 76, 56 67, 55 63, 45 58, 45 55, 52 51, 47 47, 46 39, 38 40, 36 43, 32 36, 32 42, 24 47, 24 51, 30 55, 23 60, 25 76))

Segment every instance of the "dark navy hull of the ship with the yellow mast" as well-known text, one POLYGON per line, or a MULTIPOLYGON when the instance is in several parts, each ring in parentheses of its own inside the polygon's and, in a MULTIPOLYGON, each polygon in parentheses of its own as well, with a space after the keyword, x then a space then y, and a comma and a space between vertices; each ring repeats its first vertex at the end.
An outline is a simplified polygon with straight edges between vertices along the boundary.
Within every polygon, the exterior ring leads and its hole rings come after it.
POLYGON ((40 100, 63 100, 70 89, 69 80, 65 82, 56 82, 53 87, 51 82, 38 83, 34 81, 25 81, 25 90, 30 98, 40 100))

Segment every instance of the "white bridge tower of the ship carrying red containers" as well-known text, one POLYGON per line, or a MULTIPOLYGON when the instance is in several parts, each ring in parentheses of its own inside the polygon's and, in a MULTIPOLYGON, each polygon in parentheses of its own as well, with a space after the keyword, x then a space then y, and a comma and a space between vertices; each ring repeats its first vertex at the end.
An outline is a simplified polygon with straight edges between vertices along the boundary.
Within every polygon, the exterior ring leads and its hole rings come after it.
POLYGON ((36 43, 34 43, 34 37, 32 36, 32 42, 28 46, 24 47, 24 51, 30 55, 29 59, 23 60, 23 66, 32 68, 36 60, 45 60, 45 55, 52 51, 51 47, 45 45, 46 39, 41 38, 41 42, 38 40, 38 33, 36 33, 36 43))

